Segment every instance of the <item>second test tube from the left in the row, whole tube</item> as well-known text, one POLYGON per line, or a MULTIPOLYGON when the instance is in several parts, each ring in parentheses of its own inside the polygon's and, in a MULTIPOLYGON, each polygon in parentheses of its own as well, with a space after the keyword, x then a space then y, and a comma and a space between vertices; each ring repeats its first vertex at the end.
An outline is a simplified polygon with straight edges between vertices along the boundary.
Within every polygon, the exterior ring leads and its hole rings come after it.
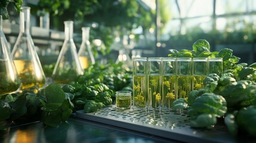
POLYGON ((149 94, 149 107, 160 108, 162 102, 162 58, 148 58, 147 67, 147 92, 149 94))

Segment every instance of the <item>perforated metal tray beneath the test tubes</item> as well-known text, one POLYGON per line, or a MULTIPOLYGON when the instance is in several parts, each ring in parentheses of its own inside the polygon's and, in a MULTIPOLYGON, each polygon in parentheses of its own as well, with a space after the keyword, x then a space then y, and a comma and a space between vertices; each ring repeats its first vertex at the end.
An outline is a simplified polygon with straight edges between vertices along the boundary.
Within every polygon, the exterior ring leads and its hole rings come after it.
POLYGON ((112 105, 95 113, 84 113, 84 110, 79 110, 76 111, 76 116, 183 142, 237 142, 230 136, 226 126, 221 124, 215 125, 212 129, 191 128, 187 110, 119 110, 112 105))

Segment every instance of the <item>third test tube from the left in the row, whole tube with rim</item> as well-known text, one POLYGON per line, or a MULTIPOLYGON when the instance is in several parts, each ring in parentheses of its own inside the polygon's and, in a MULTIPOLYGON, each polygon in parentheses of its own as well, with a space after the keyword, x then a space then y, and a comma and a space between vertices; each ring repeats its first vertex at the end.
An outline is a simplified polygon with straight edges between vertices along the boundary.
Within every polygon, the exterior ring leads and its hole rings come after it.
POLYGON ((176 97, 177 80, 176 58, 162 58, 162 103, 163 107, 171 108, 176 97))

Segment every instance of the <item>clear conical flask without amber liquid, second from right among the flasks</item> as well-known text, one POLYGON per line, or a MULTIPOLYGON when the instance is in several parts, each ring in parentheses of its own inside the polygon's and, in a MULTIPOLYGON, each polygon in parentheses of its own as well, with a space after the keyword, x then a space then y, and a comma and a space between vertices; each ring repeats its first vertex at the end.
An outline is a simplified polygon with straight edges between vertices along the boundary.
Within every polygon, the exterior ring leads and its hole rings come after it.
POLYGON ((53 80, 67 84, 83 74, 73 41, 73 21, 64 21, 65 40, 53 70, 53 80))

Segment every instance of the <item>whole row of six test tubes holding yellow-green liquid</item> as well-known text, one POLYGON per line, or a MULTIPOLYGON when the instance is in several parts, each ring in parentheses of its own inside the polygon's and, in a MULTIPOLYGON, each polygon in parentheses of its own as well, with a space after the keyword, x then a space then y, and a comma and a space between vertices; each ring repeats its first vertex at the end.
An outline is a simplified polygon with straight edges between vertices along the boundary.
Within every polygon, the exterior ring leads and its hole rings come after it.
POLYGON ((133 58, 132 107, 171 109, 178 98, 203 88, 210 73, 223 71, 222 58, 133 58))

